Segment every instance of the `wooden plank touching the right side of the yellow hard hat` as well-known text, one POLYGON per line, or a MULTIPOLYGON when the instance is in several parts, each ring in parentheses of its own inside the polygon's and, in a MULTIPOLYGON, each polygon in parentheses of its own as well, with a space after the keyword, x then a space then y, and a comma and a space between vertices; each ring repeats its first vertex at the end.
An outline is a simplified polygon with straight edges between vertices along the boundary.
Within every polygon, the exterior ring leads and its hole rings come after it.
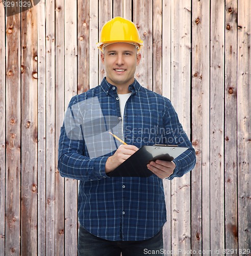
POLYGON ((153 2, 135 0, 133 22, 144 44, 141 50, 141 63, 136 69, 136 79, 143 87, 153 90, 153 2))

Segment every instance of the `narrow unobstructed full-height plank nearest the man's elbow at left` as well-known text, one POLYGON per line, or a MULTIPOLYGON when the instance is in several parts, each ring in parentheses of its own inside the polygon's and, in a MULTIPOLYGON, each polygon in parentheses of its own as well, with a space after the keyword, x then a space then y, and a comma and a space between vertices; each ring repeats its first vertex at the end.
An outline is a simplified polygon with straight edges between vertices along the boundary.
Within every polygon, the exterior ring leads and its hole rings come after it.
POLYGON ((46 2, 46 254, 55 255, 55 0, 46 2))

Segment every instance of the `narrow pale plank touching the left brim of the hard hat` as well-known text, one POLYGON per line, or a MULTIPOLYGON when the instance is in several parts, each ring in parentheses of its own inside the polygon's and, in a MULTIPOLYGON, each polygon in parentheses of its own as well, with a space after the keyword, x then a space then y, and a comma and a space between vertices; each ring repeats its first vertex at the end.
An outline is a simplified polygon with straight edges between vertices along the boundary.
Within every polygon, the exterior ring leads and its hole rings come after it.
POLYGON ((98 0, 92 0, 89 5, 90 10, 90 29, 89 29, 89 88, 96 87, 98 84, 98 59, 99 50, 96 47, 98 42, 98 0))

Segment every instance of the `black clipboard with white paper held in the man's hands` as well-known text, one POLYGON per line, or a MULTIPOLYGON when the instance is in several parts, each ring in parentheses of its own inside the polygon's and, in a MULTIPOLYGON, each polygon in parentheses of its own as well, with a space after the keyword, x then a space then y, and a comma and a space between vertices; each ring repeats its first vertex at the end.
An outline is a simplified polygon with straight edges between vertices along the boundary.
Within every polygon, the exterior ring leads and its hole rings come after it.
POLYGON ((153 173, 146 167, 150 161, 172 161, 185 152, 188 147, 176 145, 142 146, 137 152, 121 163, 109 177, 149 177, 153 173))

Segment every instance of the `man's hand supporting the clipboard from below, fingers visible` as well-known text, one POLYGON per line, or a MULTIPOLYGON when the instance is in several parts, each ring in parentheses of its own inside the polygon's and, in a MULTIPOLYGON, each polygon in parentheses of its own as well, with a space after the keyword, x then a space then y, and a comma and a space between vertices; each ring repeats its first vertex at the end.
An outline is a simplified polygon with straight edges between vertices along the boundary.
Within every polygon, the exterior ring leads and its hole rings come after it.
POLYGON ((161 179, 169 177, 173 173, 175 166, 174 162, 163 160, 156 160, 147 164, 147 168, 161 179))

